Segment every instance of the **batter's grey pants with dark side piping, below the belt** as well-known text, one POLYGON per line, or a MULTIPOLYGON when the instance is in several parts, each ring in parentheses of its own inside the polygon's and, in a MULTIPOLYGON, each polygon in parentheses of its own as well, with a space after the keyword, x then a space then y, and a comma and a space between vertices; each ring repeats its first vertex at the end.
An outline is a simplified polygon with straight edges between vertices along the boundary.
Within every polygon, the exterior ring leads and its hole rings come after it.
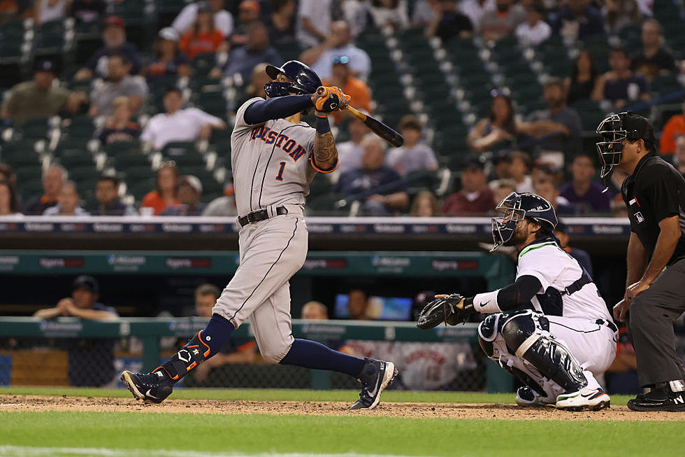
POLYGON ((238 328, 246 318, 261 356, 278 363, 293 344, 289 279, 307 257, 308 230, 302 207, 247 224, 240 230, 240 266, 212 309, 238 328))

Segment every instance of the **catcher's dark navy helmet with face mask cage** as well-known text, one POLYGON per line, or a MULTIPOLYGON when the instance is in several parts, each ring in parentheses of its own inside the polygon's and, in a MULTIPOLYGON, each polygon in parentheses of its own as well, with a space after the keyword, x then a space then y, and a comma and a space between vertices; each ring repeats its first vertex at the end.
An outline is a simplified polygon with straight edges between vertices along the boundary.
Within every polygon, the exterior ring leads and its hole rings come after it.
POLYGON ((558 219, 554 206, 546 199, 531 193, 517 194, 512 192, 503 199, 495 209, 502 214, 500 218, 492 218, 492 239, 495 246, 502 246, 514 235, 514 230, 524 218, 531 218, 542 227, 554 230, 558 219))

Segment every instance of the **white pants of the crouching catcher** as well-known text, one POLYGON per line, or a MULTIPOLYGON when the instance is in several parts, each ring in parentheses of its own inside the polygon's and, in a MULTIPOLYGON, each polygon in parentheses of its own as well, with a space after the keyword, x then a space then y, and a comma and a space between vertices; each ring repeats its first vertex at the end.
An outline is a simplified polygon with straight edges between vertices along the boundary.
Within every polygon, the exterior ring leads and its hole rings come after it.
MULTIPOLYGON (((545 316, 549 321, 549 331, 544 330, 538 318, 543 316, 538 311, 518 311, 530 314, 535 322, 535 333, 549 337, 565 346, 572 356, 582 367, 583 374, 588 381, 589 388, 598 388, 599 383, 595 376, 603 374, 614 361, 616 356, 616 333, 605 324, 598 324, 595 320, 583 318, 565 318, 560 316, 545 316)), ((490 340, 493 345, 491 359, 499 363, 501 367, 514 367, 528 374, 547 393, 548 398, 556 398, 564 392, 558 384, 546 377, 528 363, 524 358, 511 353, 501 334, 502 326, 510 317, 508 313, 500 313, 491 318, 496 318, 493 328, 494 335, 482 335, 482 326, 479 328, 479 336, 486 341, 490 340)))

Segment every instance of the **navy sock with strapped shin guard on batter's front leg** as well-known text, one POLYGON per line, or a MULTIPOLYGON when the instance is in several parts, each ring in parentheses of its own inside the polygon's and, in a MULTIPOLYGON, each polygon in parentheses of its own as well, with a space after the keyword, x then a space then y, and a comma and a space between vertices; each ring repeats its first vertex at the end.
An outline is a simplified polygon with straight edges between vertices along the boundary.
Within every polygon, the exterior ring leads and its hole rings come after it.
POLYGON ((172 381, 180 381, 194 367, 221 351, 229 342, 233 330, 233 324, 228 319, 218 314, 212 315, 205 328, 192 337, 180 351, 152 371, 166 372, 172 381))

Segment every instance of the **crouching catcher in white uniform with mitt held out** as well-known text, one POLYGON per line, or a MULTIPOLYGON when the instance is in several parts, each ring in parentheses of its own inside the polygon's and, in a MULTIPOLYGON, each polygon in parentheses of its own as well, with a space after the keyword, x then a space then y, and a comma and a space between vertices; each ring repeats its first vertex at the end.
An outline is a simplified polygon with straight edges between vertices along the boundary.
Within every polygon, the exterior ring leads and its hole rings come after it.
POLYGON ((554 208, 539 195, 512 192, 496 210, 502 217, 492 219, 492 251, 516 249, 516 281, 475 297, 437 295, 419 314, 418 327, 488 314, 478 340, 489 358, 524 383, 517 405, 610 407, 595 376, 614 360, 617 328, 589 274, 554 236, 554 208))

